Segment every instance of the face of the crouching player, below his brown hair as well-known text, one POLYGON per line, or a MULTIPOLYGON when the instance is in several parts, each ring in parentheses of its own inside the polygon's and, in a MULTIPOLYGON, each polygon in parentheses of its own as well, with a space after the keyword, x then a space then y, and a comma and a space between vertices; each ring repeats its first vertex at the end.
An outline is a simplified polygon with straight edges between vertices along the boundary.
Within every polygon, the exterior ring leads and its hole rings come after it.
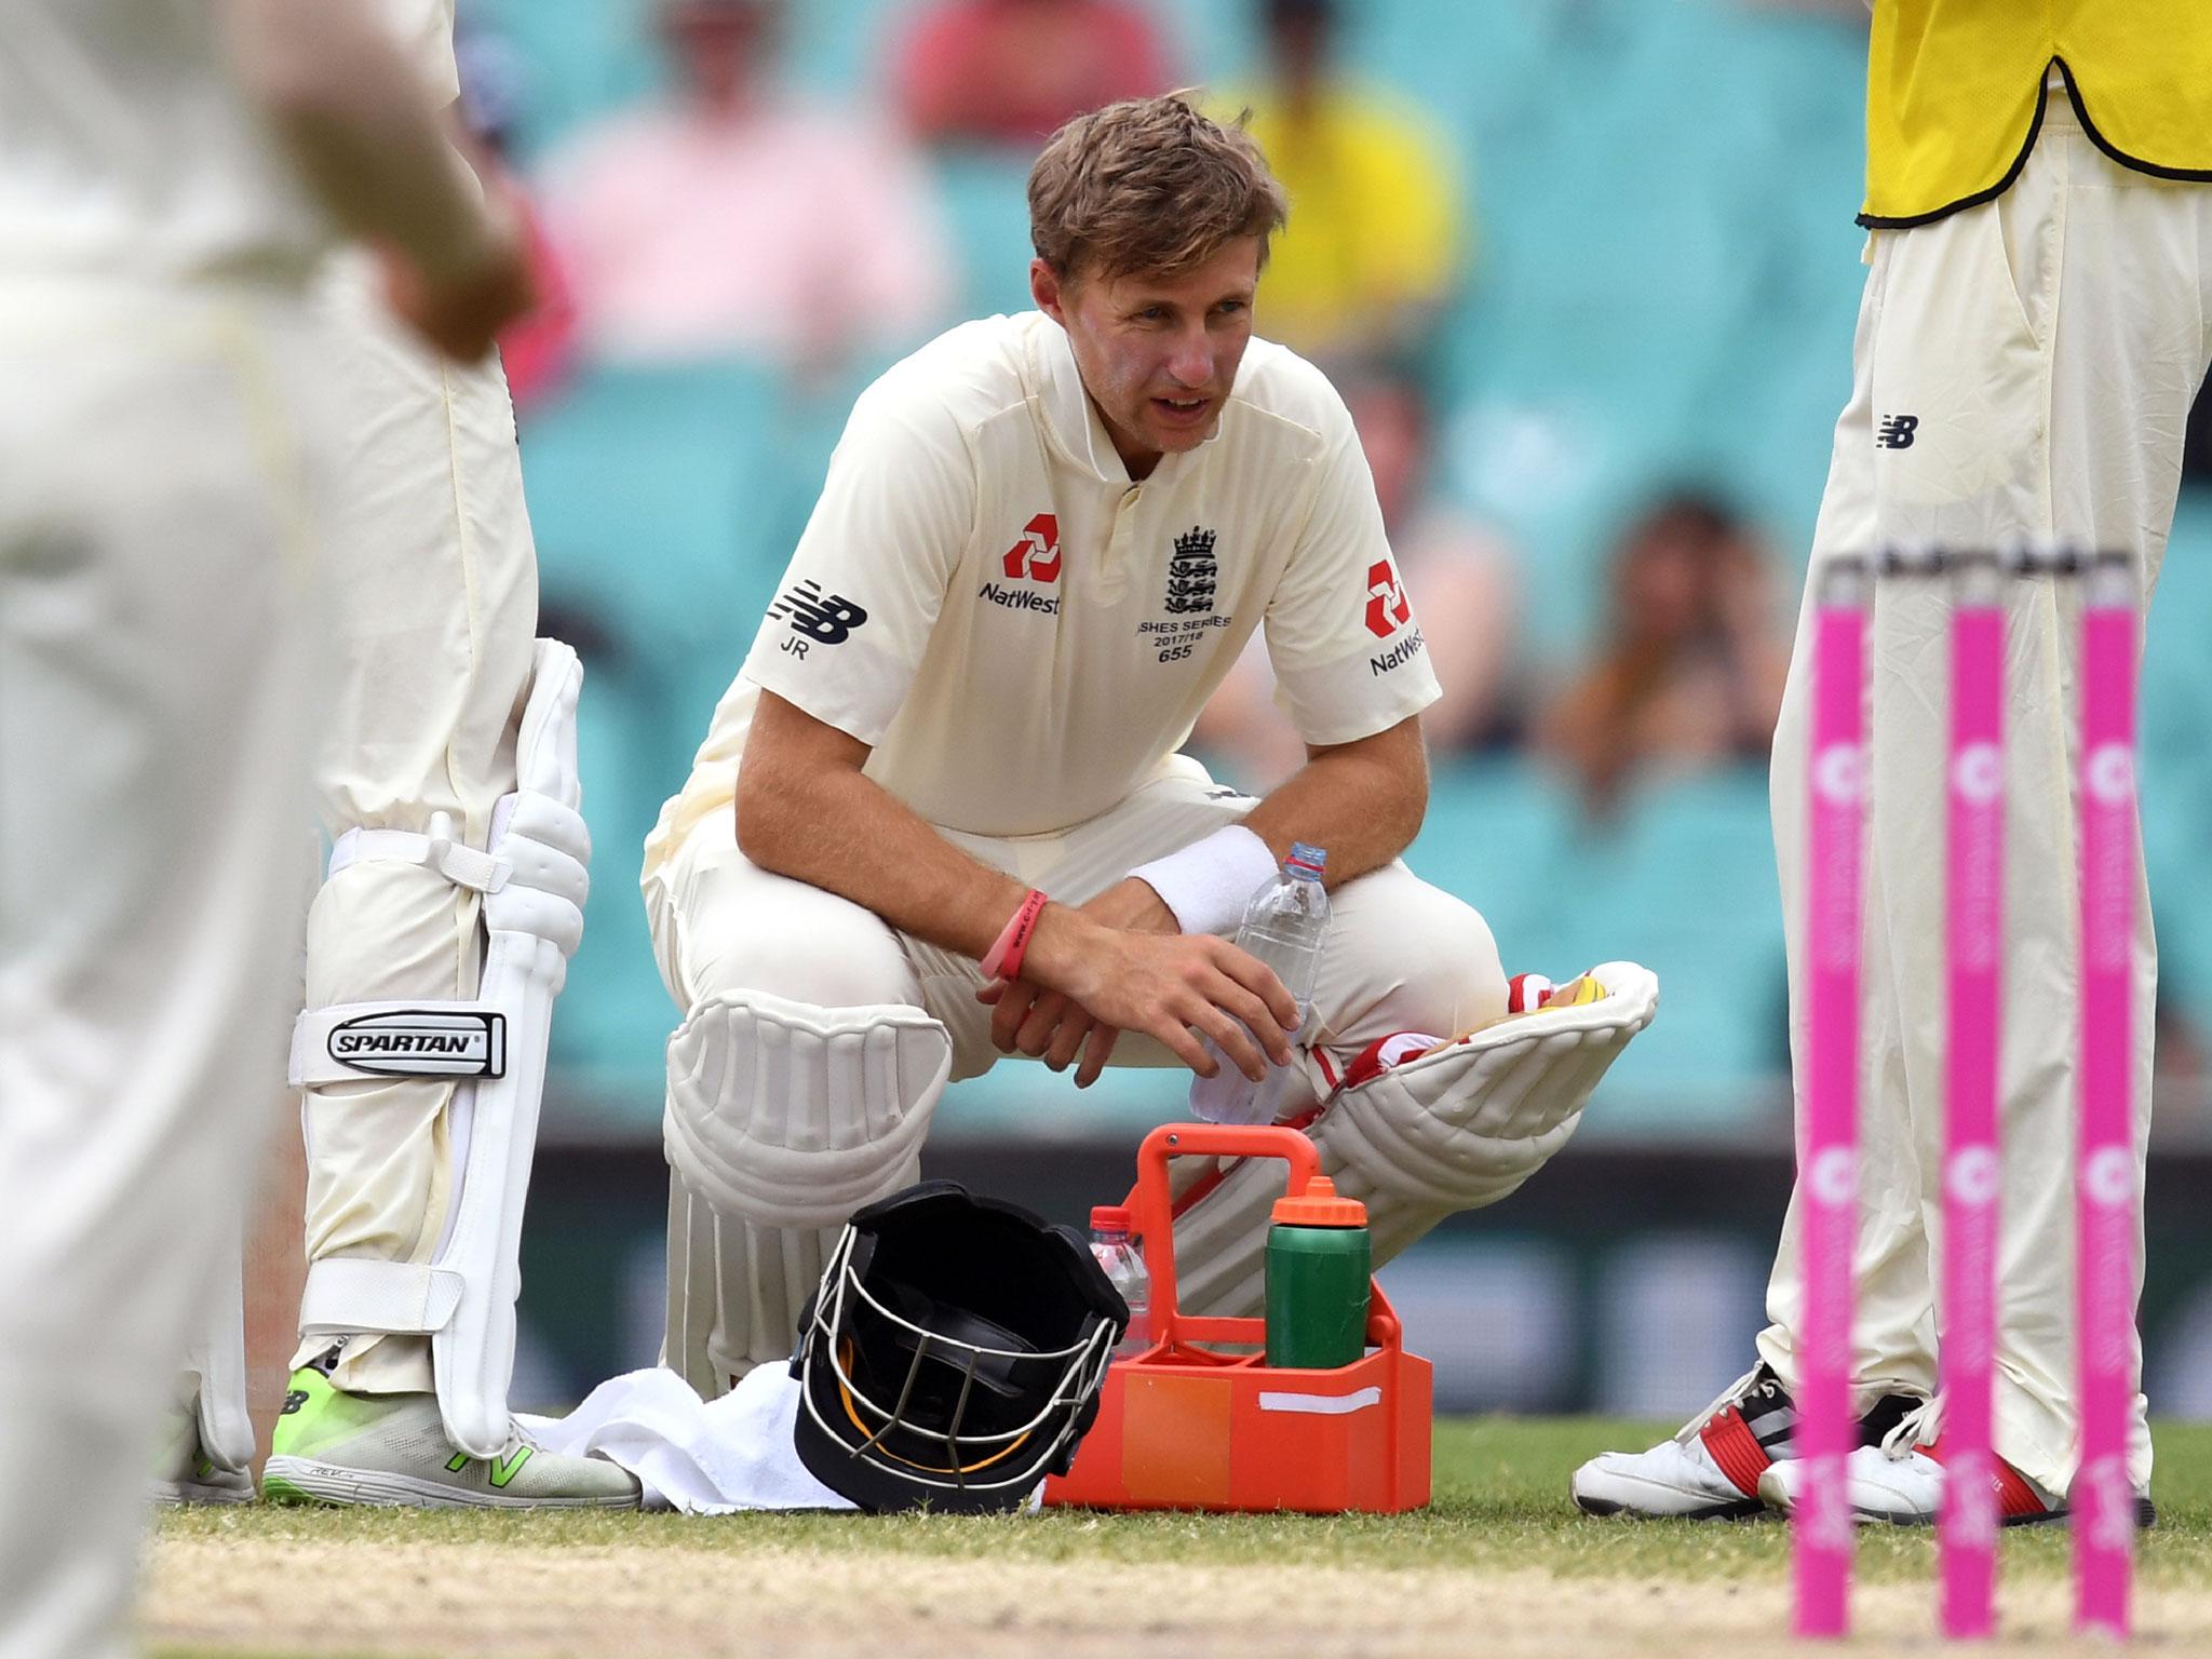
POLYGON ((1237 237, 1181 276, 1062 281, 1040 259, 1029 285, 1068 332, 1084 389, 1130 478, 1212 436, 1252 343, 1259 237, 1237 237))

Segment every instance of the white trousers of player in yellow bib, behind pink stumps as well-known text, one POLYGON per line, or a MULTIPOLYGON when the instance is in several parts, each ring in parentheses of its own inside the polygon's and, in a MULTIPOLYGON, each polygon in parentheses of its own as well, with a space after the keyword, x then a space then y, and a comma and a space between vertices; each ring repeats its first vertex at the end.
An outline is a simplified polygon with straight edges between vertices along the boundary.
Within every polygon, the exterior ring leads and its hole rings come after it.
MULTIPOLYGON (((2035 150, 1991 204, 1876 232, 1851 403, 1814 531, 1836 553, 2020 538, 2126 549, 2157 580, 2181 429, 2212 356, 2212 188, 2119 166, 2055 95, 2035 150)), ((1774 734, 1774 849, 1803 1077, 1805 754, 1812 593, 1774 734)), ((2077 1046, 2075 745, 2079 586, 2006 599, 1997 1453, 2051 1491, 2075 1467, 2073 1148, 2077 1046)), ((1863 1199, 1856 1385, 1936 1389, 1942 1192, 1944 768, 1949 599, 1885 582, 1869 633, 1863 1199)), ((2150 1121, 2157 947, 2135 931, 2137 1168, 2150 1121)), ((1803 1305, 1798 1208, 1783 1223, 1761 1356, 1790 1385, 1803 1305)), ((2132 1473, 2150 1480, 2137 1400, 2132 1473)))

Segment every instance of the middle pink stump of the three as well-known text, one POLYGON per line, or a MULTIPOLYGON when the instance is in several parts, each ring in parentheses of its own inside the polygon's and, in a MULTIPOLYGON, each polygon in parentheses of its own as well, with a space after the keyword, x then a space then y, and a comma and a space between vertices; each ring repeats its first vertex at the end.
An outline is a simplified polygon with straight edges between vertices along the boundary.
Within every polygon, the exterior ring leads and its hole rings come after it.
POLYGON ((1997 1575, 1997 962, 2004 951, 2004 606, 1995 557, 1958 562, 1944 834, 1940 1617, 1986 1637, 1997 1575))

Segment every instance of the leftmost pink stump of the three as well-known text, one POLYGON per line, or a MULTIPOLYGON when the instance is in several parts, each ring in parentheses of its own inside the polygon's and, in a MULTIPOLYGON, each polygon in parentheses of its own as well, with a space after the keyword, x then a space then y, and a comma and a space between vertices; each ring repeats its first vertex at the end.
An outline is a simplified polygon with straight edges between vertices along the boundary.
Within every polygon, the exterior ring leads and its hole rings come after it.
POLYGON ((1812 1026, 1798 1139, 1805 1314, 1796 1442, 1805 1484, 1792 1515, 1801 1637, 1849 1626, 1851 1256, 1858 1241, 1858 956, 1867 748, 1867 568, 1832 560, 1814 611, 1805 951, 1812 1026))

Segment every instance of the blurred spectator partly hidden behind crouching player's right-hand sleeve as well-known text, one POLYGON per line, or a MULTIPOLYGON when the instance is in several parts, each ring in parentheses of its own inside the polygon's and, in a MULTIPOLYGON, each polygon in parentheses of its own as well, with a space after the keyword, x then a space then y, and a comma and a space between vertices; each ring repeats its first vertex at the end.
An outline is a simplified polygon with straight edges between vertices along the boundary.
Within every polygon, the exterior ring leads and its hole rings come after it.
MULTIPOLYGON (((1261 294, 1267 292, 1261 279, 1261 294)), ((1520 597, 1513 549, 1480 520, 1429 491, 1429 407, 1405 378, 1338 383, 1376 480, 1383 529, 1420 633, 1444 686, 1420 726, 1429 750, 1447 754, 1506 741, 1515 728, 1520 597)), ((1290 717, 1274 703, 1267 653, 1252 648, 1199 714, 1194 741, 1248 790, 1267 790, 1305 763, 1290 717)))

